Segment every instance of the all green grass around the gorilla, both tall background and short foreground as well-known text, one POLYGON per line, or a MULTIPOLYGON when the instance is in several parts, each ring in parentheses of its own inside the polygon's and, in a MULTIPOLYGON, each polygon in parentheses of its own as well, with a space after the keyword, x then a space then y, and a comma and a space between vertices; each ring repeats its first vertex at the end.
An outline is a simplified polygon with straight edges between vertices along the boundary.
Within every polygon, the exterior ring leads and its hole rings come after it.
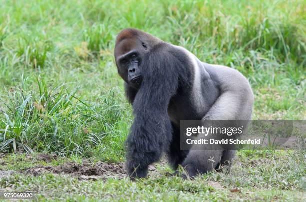
MULTIPOLYGON (((305 119, 302 0, 1 2, 0 152, 123 161, 133 117, 113 48, 116 34, 126 27, 184 46, 202 61, 242 72, 255 94, 253 119, 305 119)), ((14 155, 5 157, 8 166, 2 170, 41 164, 27 162, 21 155, 18 166, 13 159, 19 157, 14 155)), ((211 173, 196 183, 167 177, 136 183, 79 182, 50 174, 16 175, 2 179, 1 187, 40 190, 39 198, 44 200, 58 196, 85 201, 80 193, 92 201, 302 198, 304 154, 240 151, 238 161, 242 167, 236 168, 236 174, 211 173), (207 179, 221 183, 224 190, 211 188, 207 179), (41 185, 45 181, 48 184, 41 185), (231 192, 232 188, 241 192, 231 192), (73 192, 65 196, 58 190, 73 192)))

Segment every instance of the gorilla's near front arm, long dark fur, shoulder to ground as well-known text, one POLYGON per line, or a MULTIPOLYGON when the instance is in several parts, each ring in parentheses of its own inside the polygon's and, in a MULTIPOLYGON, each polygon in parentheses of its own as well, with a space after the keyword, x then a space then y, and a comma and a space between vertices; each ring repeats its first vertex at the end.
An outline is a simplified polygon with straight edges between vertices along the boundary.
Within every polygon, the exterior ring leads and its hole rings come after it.
POLYGON ((133 101, 135 119, 126 141, 126 168, 131 178, 145 177, 148 165, 169 147, 172 126, 167 108, 178 86, 175 60, 162 50, 152 51, 143 60, 147 71, 133 101))

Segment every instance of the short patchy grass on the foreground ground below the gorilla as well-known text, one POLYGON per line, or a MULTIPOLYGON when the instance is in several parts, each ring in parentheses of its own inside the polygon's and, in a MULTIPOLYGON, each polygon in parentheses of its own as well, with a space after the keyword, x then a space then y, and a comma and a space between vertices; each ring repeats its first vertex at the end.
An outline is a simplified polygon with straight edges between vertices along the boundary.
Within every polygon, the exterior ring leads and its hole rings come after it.
MULTIPOLYGON (((46 174, 3 177, 0 186, 15 191, 34 191, 38 201, 303 201, 305 196, 302 151, 239 151, 238 160, 228 173, 212 172, 194 180, 169 177, 168 167, 157 166, 158 173, 131 182, 128 179, 80 181, 71 176, 46 174)), ((9 155, 1 170, 22 171, 31 166, 56 166, 77 157, 59 158, 50 163, 36 155, 9 155)), ((94 161, 94 160, 91 160, 94 161)))

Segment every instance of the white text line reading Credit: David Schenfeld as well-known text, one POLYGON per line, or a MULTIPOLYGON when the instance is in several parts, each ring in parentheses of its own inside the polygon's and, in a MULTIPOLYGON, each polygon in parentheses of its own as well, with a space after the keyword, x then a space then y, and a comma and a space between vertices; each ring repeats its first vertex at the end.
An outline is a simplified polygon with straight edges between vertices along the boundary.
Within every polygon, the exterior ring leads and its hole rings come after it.
POLYGON ((213 138, 210 139, 198 139, 198 140, 192 140, 191 138, 186 139, 187 144, 260 144, 260 138, 256 139, 248 139, 248 140, 239 140, 239 139, 221 139, 221 140, 215 140, 213 138))

